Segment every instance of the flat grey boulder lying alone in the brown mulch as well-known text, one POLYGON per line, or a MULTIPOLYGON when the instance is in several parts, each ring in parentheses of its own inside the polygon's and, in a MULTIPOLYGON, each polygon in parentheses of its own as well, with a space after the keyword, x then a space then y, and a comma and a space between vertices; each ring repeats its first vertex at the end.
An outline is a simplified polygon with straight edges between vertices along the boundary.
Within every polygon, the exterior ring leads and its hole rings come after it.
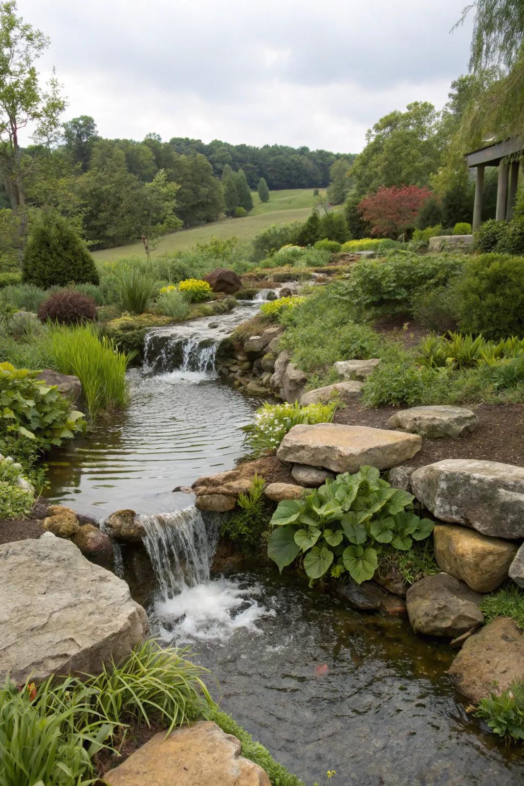
POLYGON ((460 406, 412 406, 409 410, 396 412, 387 424, 411 434, 442 439, 475 431, 478 417, 460 406))

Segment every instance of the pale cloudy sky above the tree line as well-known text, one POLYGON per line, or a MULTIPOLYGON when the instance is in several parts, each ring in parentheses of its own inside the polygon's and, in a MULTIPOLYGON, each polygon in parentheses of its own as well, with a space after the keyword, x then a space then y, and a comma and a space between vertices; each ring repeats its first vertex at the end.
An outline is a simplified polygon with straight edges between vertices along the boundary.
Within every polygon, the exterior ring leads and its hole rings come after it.
MULTIPOLYGON (((464 0, 465 2, 465 0, 464 0)), ((105 137, 155 131, 358 152, 409 101, 467 71, 459 0, 18 0, 51 39, 69 106, 105 137)))

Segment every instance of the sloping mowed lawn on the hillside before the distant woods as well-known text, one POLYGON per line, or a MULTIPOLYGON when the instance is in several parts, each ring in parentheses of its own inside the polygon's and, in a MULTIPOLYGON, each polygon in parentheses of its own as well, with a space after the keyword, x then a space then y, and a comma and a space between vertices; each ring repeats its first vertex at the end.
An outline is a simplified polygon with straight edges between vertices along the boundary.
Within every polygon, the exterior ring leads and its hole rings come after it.
MULTIPOLYGON (((253 192, 255 208, 244 219, 221 219, 211 224, 195 226, 191 230, 181 230, 160 238, 152 256, 165 252, 183 251, 196 243, 206 243, 211 237, 238 237, 242 241, 252 237, 268 226, 284 224, 289 221, 305 221, 313 208, 313 189, 286 189, 272 191, 269 202, 261 203, 258 193, 253 192)), ((142 255, 144 246, 141 241, 118 248, 104 248, 93 252, 95 259, 118 259, 122 256, 142 255)))

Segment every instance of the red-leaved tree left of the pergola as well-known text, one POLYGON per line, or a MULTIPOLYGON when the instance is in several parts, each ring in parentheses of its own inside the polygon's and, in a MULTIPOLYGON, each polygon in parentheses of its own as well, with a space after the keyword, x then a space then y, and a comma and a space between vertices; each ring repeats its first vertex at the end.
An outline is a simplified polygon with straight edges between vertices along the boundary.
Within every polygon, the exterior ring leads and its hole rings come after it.
POLYGON ((418 185, 384 186, 376 194, 366 196, 358 205, 365 221, 372 225, 373 237, 398 237, 415 225, 417 213, 431 196, 430 189, 418 185))

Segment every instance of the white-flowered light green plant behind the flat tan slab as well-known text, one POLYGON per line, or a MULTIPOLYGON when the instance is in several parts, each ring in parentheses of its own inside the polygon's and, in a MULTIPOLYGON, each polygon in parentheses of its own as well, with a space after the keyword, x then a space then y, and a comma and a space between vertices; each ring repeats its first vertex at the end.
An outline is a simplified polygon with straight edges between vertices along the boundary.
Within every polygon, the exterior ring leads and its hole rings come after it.
POLYGON ((274 453, 284 436, 298 424, 331 423, 335 415, 336 403, 308 404, 269 404, 266 402, 255 413, 255 423, 242 427, 245 433, 244 444, 256 456, 274 453))

